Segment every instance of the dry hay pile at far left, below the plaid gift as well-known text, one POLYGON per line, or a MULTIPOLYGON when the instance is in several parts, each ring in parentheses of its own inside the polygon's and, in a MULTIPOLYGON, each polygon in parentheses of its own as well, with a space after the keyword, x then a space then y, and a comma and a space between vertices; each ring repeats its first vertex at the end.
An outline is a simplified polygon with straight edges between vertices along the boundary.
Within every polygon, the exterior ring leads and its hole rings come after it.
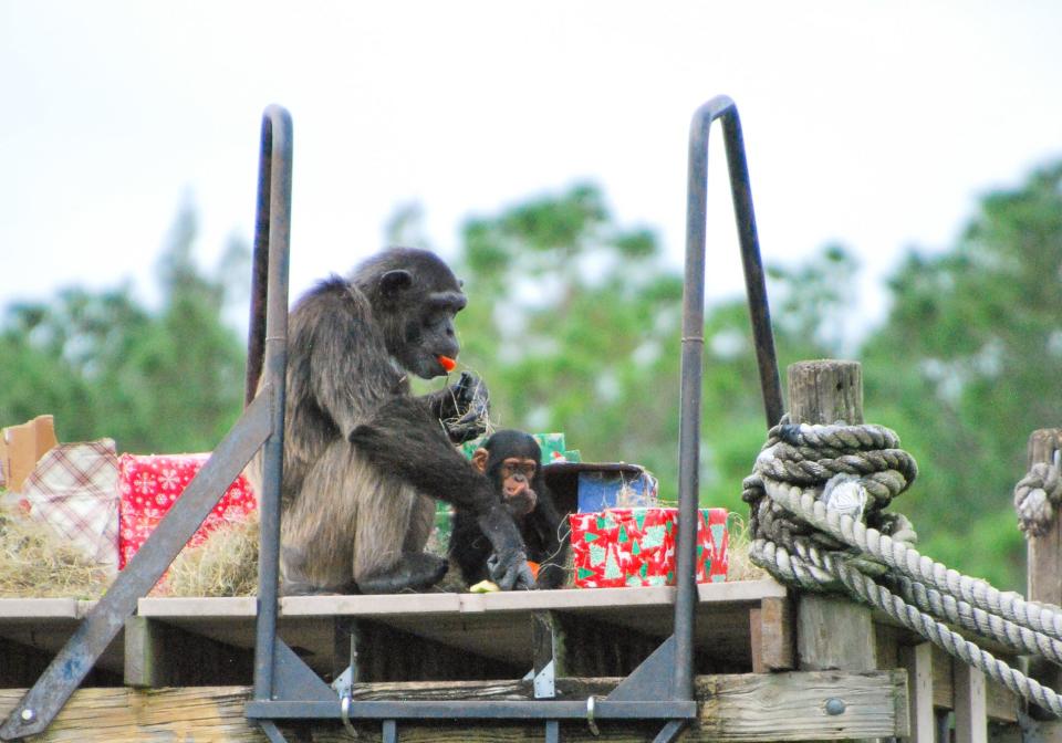
POLYGON ((0 597, 100 598, 111 579, 48 524, 0 509, 0 597))

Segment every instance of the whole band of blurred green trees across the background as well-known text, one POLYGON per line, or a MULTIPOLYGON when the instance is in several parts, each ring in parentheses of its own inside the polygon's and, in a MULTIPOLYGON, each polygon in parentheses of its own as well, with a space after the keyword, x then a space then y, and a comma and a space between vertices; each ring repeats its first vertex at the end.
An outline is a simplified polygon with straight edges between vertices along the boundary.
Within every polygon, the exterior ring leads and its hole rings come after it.
MULTIPOLYGON (((195 234, 183 208, 157 302, 119 286, 9 305, 0 423, 53 412, 64 440, 215 446, 241 407, 243 341, 226 317, 232 304, 246 312, 248 250, 233 241, 205 271, 195 234)), ((387 234, 430 247, 417 205, 387 234)), ((575 184, 469 218, 444 252, 470 294, 460 360, 488 380, 492 422, 564 431, 584 460, 644 464, 674 499, 681 275, 653 230, 620 224, 598 187, 575 184)), ((894 507, 925 552, 1022 588, 1010 492, 1030 431, 1062 426, 1062 164, 987 195, 947 250, 908 250, 887 317, 860 337, 848 335, 858 265, 843 245, 795 265, 766 258, 782 369, 862 360, 866 419, 894 428, 922 469, 894 507)), ((764 438, 743 297, 707 307, 705 338, 701 500, 743 513, 740 482, 764 438)))

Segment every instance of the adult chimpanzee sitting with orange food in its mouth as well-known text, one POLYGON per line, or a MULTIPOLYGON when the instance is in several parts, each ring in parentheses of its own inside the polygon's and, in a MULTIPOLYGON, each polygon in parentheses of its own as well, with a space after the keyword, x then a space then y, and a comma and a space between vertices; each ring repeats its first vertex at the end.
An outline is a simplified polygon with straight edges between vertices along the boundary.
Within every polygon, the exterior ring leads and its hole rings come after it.
POLYGON ((460 282, 435 254, 395 248, 294 306, 288 334, 281 590, 423 589, 447 562, 426 554, 441 499, 473 514, 499 555, 501 587, 533 578, 512 517, 452 442, 482 432, 471 375, 410 397, 407 374, 452 368, 460 282))

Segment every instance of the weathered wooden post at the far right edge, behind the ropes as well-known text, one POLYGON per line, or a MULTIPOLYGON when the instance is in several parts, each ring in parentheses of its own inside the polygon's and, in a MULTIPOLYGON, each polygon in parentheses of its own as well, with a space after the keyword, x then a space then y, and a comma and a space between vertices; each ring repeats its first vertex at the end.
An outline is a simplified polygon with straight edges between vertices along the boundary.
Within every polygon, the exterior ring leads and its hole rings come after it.
MULTIPOLYGON (((1054 461, 1062 450, 1062 428, 1041 428, 1029 436, 1028 469, 1054 461)), ((1025 547, 1025 579, 1029 599, 1044 604, 1062 604, 1062 519, 1055 514, 1047 534, 1030 535, 1025 547)), ((1062 689, 1062 669, 1049 662, 1031 663, 1030 673, 1054 690, 1062 689)), ((1035 714, 1035 709, 1030 708, 1035 714)), ((1053 718, 1049 718, 1053 720, 1053 718)), ((1041 726, 1044 743, 1062 743, 1062 723, 1045 722, 1041 726)))

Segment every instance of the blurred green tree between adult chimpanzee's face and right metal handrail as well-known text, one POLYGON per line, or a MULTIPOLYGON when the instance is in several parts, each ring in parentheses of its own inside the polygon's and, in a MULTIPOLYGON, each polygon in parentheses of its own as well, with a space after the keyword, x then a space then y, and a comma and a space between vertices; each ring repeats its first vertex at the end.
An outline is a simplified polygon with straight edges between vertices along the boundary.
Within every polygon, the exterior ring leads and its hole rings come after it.
POLYGON ((493 422, 673 470, 681 280, 656 236, 616 224, 576 184, 470 219, 462 237, 462 362, 487 378, 493 422))

